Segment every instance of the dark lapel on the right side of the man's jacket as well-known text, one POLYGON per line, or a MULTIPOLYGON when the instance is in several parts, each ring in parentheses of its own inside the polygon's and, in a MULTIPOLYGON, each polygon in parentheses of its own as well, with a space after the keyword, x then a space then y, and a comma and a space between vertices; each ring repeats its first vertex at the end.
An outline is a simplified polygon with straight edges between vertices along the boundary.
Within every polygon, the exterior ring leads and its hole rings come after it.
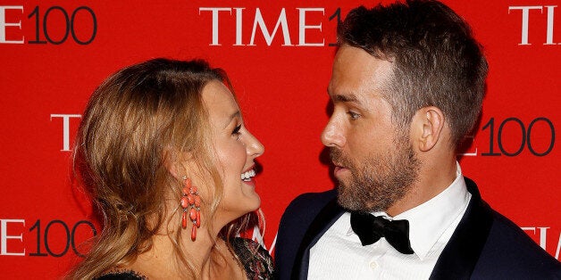
POLYGON ((492 210, 481 200, 477 185, 465 178, 472 199, 464 217, 440 254, 430 279, 469 279, 493 223, 492 210))

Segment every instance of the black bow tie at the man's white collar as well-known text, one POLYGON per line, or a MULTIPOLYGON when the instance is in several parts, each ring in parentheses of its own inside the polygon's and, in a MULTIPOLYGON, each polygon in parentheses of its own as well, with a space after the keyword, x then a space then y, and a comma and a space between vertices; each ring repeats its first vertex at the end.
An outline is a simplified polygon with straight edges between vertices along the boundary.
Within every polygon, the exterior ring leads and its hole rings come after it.
POLYGON ((368 213, 351 213, 351 227, 363 246, 370 245, 381 237, 402 254, 414 253, 409 242, 409 221, 406 219, 388 220, 368 213))

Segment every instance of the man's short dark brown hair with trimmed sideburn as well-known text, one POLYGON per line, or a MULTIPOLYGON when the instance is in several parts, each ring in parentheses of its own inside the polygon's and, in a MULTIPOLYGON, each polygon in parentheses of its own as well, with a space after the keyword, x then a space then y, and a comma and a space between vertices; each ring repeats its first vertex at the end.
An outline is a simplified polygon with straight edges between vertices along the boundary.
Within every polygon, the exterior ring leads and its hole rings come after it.
POLYGON ((338 37, 341 45, 393 62, 384 98, 400 128, 407 128, 419 109, 436 106, 455 147, 473 129, 488 65, 469 25, 448 6, 432 0, 360 6, 339 25, 338 37))

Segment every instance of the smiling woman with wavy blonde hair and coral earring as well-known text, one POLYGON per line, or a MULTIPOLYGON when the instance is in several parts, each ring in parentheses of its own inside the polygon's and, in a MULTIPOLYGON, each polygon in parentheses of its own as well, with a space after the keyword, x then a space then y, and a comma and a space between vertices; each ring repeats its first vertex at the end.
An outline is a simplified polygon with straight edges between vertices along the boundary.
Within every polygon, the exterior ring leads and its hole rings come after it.
POLYGON ((96 89, 74 164, 104 226, 70 278, 272 275, 267 251, 234 237, 259 208, 252 177, 264 147, 229 87, 205 62, 155 59, 96 89))

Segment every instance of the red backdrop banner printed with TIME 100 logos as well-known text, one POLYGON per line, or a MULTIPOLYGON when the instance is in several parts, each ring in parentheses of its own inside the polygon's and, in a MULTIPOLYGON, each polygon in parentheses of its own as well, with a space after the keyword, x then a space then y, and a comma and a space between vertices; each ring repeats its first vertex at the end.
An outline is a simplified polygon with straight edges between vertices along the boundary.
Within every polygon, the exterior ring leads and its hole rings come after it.
MULTIPOLYGON (((559 259, 561 7, 557 0, 446 0, 490 62, 481 123, 460 159, 483 198, 559 259)), ((274 249, 280 215, 333 187, 322 161, 338 22, 360 1, 0 1, 0 271, 58 278, 100 232, 71 182, 88 96, 155 57, 226 70, 265 146, 256 177, 274 249)), ((512 244, 516 246, 516 244, 512 244)))

